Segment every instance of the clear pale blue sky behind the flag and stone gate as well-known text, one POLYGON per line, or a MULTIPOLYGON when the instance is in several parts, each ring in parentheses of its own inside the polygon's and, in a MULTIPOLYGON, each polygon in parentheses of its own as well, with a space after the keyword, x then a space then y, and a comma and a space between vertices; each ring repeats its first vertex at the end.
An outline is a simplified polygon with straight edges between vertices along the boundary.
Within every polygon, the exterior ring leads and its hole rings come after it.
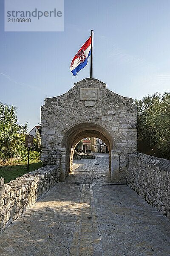
POLYGON ((70 63, 94 29, 94 78, 141 99, 170 90, 170 0, 65 0, 64 32, 4 32, 0 0, 0 101, 17 107, 28 130, 40 106, 89 77, 70 63))

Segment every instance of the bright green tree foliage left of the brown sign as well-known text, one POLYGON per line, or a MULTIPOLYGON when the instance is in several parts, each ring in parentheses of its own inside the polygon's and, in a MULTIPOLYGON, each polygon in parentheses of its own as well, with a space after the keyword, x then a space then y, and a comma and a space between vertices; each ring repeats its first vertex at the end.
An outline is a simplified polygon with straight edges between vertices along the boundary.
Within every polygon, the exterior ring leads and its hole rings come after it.
POLYGON ((0 102, 0 158, 19 157, 24 148, 26 125, 18 125, 16 107, 0 102))

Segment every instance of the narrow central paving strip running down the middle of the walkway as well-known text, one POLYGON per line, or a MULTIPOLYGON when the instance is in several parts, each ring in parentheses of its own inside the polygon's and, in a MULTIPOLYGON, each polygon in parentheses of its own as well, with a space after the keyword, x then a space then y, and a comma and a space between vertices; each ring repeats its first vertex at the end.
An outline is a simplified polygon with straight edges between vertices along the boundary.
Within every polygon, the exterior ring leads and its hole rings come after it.
POLYGON ((92 182, 96 159, 85 176, 69 256, 102 256, 92 182))

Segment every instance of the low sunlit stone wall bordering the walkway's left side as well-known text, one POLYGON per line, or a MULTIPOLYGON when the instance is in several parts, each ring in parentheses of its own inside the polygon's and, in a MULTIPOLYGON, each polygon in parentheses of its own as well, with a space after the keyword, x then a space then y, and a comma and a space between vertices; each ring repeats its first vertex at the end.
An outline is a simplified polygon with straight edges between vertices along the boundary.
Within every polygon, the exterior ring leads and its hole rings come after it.
POLYGON ((0 233, 59 181, 59 166, 45 166, 9 183, 0 178, 0 233))

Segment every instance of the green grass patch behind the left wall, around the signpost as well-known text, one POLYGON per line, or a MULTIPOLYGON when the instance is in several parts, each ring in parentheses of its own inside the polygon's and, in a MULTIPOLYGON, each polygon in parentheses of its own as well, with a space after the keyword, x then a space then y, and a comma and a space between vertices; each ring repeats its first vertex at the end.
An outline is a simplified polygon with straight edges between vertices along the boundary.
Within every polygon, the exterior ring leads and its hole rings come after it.
MULTIPOLYGON (((42 167, 40 160, 30 161, 29 172, 35 171, 42 167)), ((27 161, 18 161, 0 165, 0 177, 6 182, 16 179, 27 173, 27 161)))

